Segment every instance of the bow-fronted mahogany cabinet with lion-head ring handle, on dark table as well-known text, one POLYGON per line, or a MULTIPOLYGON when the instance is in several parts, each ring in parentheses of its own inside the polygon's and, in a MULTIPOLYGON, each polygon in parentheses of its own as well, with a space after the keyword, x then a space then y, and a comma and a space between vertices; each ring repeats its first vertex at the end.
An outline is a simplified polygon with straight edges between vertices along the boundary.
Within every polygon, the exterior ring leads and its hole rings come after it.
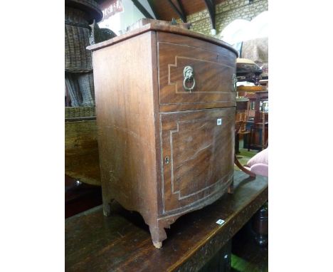
POLYGON ((179 216, 233 186, 237 53, 149 23, 93 50, 104 213, 139 211, 154 246, 179 216))

